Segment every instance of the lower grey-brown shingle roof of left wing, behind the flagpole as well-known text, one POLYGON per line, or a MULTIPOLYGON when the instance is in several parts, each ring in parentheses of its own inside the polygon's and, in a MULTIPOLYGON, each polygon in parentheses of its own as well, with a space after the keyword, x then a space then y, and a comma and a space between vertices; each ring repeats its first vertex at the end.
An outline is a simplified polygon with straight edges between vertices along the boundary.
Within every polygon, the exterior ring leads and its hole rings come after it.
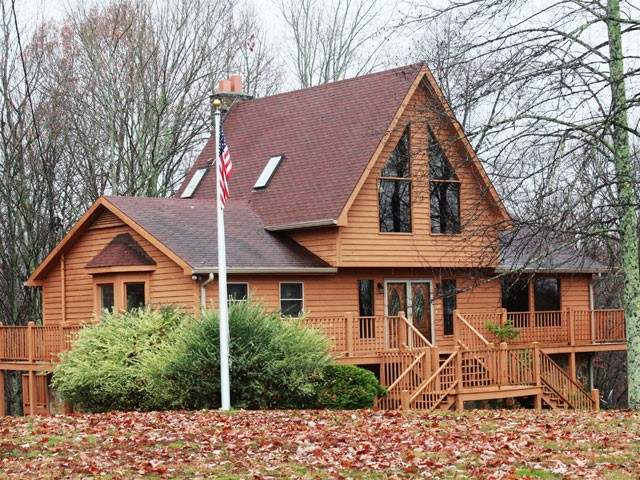
MULTIPOLYGON (((135 197, 105 199, 192 269, 217 269, 214 201, 135 197)), ((246 202, 228 203, 224 216, 229 271, 330 268, 286 235, 267 232, 246 202)))

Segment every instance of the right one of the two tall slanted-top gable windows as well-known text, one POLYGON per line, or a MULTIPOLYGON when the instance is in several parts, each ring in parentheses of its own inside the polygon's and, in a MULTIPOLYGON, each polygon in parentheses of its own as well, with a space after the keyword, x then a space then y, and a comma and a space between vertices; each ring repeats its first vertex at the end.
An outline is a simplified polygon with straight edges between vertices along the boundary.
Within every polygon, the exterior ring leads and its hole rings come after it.
POLYGON ((428 150, 431 233, 460 233, 460 182, 431 130, 428 150))

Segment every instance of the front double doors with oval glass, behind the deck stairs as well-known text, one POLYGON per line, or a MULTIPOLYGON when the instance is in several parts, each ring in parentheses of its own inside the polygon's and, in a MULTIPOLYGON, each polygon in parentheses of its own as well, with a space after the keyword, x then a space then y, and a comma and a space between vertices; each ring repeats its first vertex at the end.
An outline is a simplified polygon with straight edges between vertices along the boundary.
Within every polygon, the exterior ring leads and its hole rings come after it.
POLYGON ((407 318, 424 337, 433 343, 431 322, 431 282, 427 280, 389 280, 387 287, 387 315, 405 312, 407 318))

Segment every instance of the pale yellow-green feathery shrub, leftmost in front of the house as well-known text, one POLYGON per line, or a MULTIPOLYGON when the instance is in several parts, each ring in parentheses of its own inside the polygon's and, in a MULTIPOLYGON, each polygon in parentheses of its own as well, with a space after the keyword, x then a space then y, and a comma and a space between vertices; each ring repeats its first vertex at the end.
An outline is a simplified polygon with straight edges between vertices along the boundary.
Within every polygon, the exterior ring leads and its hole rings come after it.
POLYGON ((87 411, 152 410, 165 405, 148 391, 150 362, 166 355, 191 317, 174 307, 105 314, 61 354, 53 387, 87 411))

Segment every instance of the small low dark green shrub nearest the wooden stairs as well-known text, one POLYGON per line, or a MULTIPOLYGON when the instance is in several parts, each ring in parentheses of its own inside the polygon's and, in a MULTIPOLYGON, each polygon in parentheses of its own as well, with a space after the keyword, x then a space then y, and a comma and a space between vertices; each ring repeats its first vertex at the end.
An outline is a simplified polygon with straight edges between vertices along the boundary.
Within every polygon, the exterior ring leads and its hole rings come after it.
POLYGON ((386 393, 369 370, 355 365, 330 365, 324 371, 318 403, 321 408, 335 410, 371 408, 376 396, 386 393))

